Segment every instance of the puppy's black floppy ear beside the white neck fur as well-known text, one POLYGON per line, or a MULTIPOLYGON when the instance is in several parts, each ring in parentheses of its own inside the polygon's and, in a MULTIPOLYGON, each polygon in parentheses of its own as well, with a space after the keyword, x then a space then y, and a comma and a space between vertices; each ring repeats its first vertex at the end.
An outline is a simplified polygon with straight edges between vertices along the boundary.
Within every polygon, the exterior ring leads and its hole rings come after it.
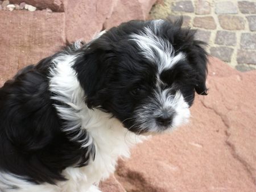
POLYGON ((89 108, 101 106, 106 99, 101 95, 106 91, 106 82, 110 81, 114 56, 111 44, 97 39, 83 50, 73 65, 89 108))

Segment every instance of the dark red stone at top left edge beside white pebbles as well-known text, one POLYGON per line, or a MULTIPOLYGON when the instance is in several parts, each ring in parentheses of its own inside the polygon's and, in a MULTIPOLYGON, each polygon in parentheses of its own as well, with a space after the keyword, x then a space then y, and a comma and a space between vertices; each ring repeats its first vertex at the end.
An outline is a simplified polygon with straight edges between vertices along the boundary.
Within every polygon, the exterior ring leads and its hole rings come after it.
MULTIPOLYGON (((49 8, 55 12, 64 12, 64 2, 67 0, 10 0, 11 3, 25 2, 28 5, 35 6, 39 10, 49 8)), ((76 3, 73 3, 76 4, 76 3)))

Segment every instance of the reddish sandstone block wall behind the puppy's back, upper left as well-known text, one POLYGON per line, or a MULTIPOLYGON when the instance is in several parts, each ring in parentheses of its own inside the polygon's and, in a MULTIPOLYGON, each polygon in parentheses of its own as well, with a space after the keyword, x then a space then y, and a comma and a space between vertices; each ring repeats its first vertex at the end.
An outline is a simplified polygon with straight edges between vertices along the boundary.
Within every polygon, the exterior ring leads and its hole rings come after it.
POLYGON ((155 1, 0 1, 0 84, 67 43, 89 41, 101 30, 131 19, 146 19, 155 1), (2 6, 20 2, 35 6, 36 11, 9 11, 2 6))

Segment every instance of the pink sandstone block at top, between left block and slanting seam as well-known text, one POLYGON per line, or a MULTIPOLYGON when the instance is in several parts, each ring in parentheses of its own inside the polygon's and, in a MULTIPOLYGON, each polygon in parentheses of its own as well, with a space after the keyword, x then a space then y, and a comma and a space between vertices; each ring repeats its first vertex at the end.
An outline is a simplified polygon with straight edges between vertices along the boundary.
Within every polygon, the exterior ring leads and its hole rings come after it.
POLYGON ((102 30, 114 0, 91 1, 77 0, 65 6, 65 31, 67 41, 78 39, 89 41, 102 30))

